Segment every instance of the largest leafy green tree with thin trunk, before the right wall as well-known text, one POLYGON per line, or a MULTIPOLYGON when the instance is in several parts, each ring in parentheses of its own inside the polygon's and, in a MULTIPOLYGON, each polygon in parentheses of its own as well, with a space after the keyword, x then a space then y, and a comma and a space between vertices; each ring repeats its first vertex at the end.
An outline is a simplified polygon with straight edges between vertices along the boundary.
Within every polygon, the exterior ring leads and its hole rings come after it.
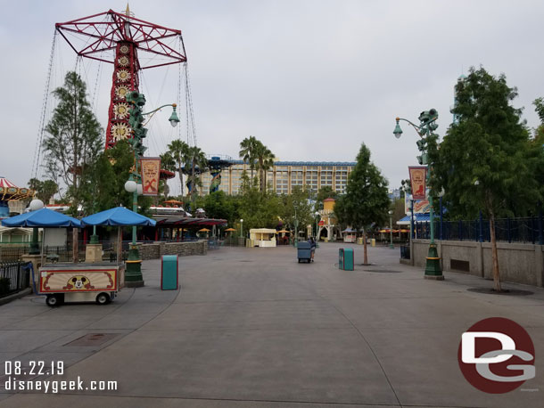
POLYGON ((495 78, 482 67, 470 69, 456 86, 458 121, 440 149, 430 145, 433 191, 444 189, 452 212, 474 217, 480 210, 490 220, 494 289, 500 288, 495 219, 534 208, 538 189, 532 175, 529 132, 521 110, 511 102, 515 88, 504 75, 495 78))

